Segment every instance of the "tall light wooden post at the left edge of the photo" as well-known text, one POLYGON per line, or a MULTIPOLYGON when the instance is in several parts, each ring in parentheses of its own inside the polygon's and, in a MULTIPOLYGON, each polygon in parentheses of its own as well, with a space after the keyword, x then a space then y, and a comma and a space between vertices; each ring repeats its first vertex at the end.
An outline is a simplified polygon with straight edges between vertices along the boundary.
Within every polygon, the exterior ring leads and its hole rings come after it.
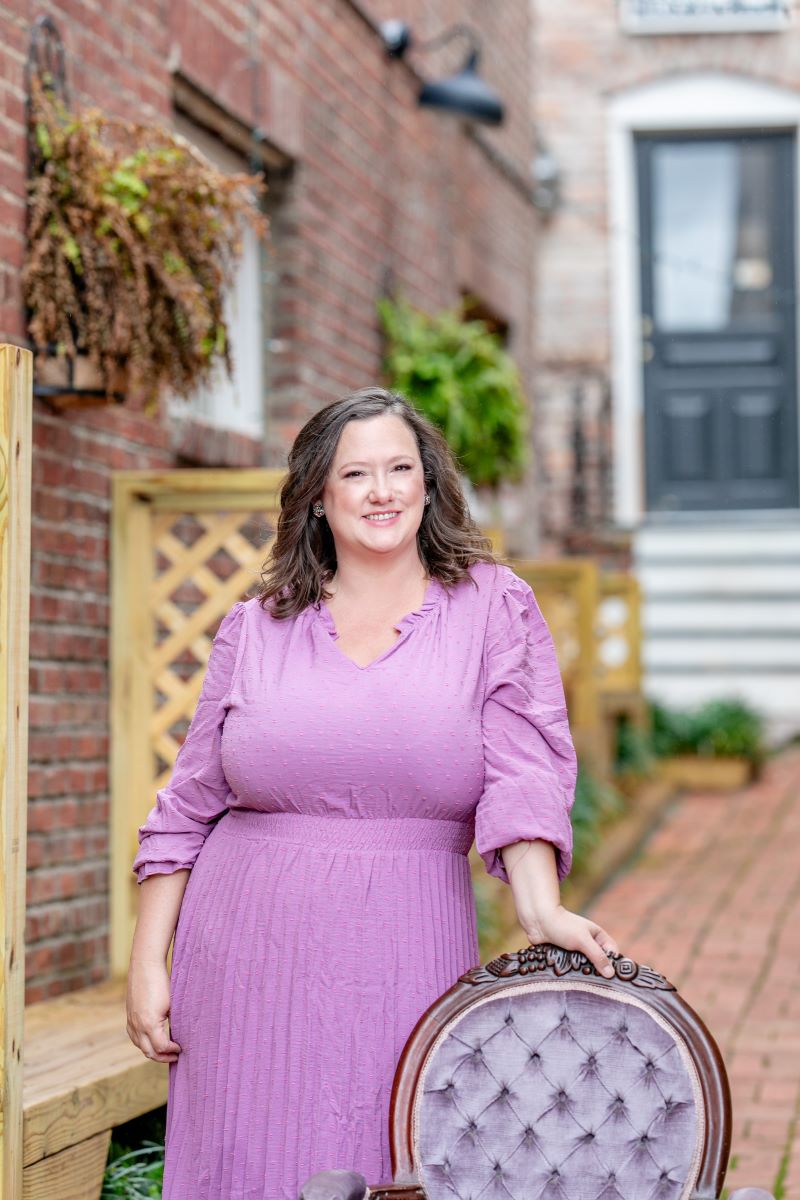
POLYGON ((0 346, 0 1200, 23 1190, 31 410, 30 350, 0 346))

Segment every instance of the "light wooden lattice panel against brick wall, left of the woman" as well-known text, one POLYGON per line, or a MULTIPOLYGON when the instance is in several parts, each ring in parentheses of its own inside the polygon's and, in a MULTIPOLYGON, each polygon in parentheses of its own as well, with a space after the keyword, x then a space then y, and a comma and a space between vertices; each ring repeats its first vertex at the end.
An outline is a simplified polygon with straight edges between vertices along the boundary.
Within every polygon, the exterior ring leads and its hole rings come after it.
POLYGON ((127 967, 137 830, 170 775, 211 643, 258 587, 282 473, 121 472, 114 479, 112 955, 127 967))

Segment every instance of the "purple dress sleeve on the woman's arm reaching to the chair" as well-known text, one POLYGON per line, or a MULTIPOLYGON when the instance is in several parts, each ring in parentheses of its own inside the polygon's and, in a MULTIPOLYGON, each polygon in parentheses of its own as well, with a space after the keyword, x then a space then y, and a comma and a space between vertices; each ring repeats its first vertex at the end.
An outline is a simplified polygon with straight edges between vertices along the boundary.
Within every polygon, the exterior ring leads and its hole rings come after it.
POLYGON ((563 880, 572 864, 577 760, 553 638, 530 587, 507 568, 492 596, 485 664, 477 850, 489 875, 507 883, 500 848, 549 841, 563 880))

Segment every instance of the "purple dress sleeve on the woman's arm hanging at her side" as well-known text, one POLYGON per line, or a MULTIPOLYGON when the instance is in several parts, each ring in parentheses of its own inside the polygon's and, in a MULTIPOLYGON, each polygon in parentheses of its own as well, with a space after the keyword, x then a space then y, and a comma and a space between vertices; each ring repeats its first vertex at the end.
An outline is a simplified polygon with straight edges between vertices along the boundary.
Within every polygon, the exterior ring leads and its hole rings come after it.
POLYGON ((139 828, 132 870, 137 882, 191 868, 213 822, 228 808, 230 788, 221 761, 222 726, 245 620, 240 601, 222 619, 211 647, 200 698, 178 751, 173 774, 139 828))

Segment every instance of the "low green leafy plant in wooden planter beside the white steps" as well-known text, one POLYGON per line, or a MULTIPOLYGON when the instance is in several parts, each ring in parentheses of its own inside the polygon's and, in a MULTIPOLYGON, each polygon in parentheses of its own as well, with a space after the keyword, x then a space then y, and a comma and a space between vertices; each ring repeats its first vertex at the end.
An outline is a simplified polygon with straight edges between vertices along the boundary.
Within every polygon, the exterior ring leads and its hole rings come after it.
POLYGON ((658 757, 741 757, 757 764, 764 758, 764 722, 741 701, 712 700, 687 712, 652 704, 651 716, 652 749, 658 757))

